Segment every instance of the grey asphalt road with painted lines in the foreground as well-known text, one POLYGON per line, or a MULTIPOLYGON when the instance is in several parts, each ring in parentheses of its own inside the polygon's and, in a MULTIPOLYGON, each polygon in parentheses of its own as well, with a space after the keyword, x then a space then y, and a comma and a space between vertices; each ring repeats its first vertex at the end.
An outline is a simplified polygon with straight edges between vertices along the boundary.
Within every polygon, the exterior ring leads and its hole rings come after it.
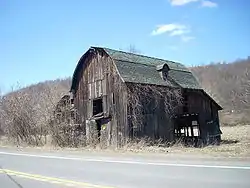
POLYGON ((2 188, 249 188, 240 159, 16 151, 0 148, 2 188))

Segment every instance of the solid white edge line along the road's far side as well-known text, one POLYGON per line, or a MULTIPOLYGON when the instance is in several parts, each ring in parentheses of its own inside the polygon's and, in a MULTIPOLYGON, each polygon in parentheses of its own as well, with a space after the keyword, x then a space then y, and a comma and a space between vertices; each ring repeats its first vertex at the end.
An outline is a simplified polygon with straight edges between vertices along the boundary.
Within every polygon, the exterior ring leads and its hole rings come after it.
POLYGON ((2 155, 13 155, 13 156, 25 156, 25 157, 36 157, 36 158, 47 158, 47 159, 63 159, 63 160, 78 160, 87 162, 103 162, 103 163, 121 163, 121 164, 138 164, 138 165, 155 165, 155 166, 174 166, 174 167, 193 167, 193 168, 220 168, 220 169, 242 169, 250 170, 250 166, 223 166, 223 165, 202 165, 202 164, 180 164, 180 163, 162 163, 162 162, 141 162, 141 161, 121 161, 121 160, 107 160, 107 159, 87 159, 80 157, 62 157, 62 156, 51 156, 51 155, 35 155, 27 153, 11 153, 1 152, 2 155))

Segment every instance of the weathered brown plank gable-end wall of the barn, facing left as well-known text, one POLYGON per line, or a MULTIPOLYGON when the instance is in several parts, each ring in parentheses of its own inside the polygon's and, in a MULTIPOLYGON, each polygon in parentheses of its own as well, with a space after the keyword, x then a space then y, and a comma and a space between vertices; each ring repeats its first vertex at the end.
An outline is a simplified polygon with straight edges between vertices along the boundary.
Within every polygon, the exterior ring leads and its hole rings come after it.
POLYGON ((103 113, 106 118, 101 130, 101 141, 116 145, 124 136, 126 125, 126 87, 117 73, 111 58, 102 51, 89 53, 78 72, 74 103, 85 127, 87 138, 96 129, 88 123, 93 117, 93 100, 103 99, 103 113))

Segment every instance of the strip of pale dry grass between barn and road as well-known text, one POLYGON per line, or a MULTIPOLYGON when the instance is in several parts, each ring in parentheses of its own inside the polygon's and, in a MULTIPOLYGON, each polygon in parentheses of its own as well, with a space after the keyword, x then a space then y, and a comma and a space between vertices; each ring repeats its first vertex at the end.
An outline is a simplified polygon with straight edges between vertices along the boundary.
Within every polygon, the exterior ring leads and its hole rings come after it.
MULTIPOLYGON (((181 143, 176 143, 171 147, 164 147, 159 141, 152 145, 147 139, 139 142, 129 142, 119 149, 103 148, 101 145, 94 147, 88 146, 84 148, 59 148, 51 145, 44 147, 36 147, 42 150, 71 150, 71 151, 91 151, 91 152, 116 152, 116 153, 161 153, 161 154, 178 154, 185 156, 205 156, 205 157, 250 157, 250 125, 222 127, 222 143, 220 146, 207 146, 204 148, 185 147, 181 143)), ((6 146, 7 140, 0 139, 0 146, 6 146)), ((8 144, 9 145, 9 144, 8 144)), ((13 145, 12 145, 13 146, 13 145)), ((20 147, 20 146, 19 146, 20 147)), ((22 145, 23 148, 34 148, 22 145)))

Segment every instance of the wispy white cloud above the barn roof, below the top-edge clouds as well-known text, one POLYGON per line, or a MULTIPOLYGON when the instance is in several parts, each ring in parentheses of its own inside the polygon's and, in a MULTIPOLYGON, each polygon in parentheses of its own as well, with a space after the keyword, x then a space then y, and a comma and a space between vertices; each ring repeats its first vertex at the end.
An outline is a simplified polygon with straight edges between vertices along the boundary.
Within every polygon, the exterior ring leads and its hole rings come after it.
POLYGON ((169 33, 170 36, 175 35, 181 35, 187 30, 187 27, 185 25, 181 24, 165 24, 165 25, 159 25, 154 29, 151 33, 151 35, 161 35, 163 33, 169 33))

